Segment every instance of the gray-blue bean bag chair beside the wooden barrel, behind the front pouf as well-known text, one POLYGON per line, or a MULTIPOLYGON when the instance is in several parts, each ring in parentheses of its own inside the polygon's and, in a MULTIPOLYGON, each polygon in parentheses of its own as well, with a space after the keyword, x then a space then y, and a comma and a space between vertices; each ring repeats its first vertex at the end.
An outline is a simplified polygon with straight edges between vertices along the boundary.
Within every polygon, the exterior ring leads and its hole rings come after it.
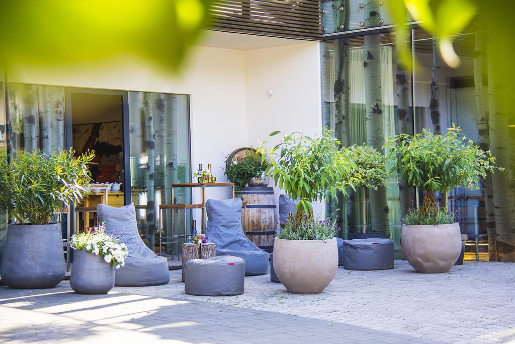
POLYGON ((269 254, 247 239, 242 229, 242 200, 205 202, 208 225, 205 235, 216 244, 217 256, 236 256, 245 260, 245 275, 268 272, 269 254))

